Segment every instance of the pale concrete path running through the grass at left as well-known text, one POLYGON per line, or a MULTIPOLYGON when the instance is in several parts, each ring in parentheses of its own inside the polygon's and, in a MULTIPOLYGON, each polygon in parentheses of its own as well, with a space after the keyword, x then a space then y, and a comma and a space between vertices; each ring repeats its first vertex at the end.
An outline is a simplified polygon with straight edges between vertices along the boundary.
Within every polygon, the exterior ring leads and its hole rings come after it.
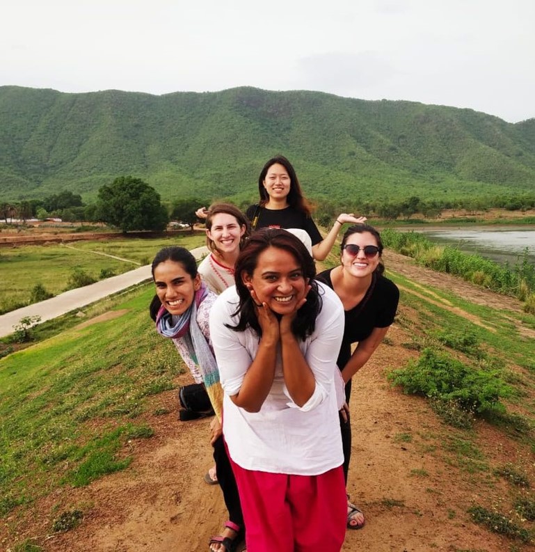
MULTIPOLYGON (((197 247, 192 249, 191 253, 195 259, 200 260, 207 255, 208 249, 205 246, 197 247)), ((17 310, 12 310, 10 313, 0 315, 0 338, 13 333, 13 326, 26 316, 40 316, 40 322, 52 320, 70 313, 71 310, 88 306, 99 299, 126 290, 128 287, 152 280, 150 269, 150 265, 145 265, 124 274, 119 274, 119 276, 112 276, 94 284, 78 287, 76 290, 69 290, 46 301, 33 303, 27 307, 17 308, 17 310)))

